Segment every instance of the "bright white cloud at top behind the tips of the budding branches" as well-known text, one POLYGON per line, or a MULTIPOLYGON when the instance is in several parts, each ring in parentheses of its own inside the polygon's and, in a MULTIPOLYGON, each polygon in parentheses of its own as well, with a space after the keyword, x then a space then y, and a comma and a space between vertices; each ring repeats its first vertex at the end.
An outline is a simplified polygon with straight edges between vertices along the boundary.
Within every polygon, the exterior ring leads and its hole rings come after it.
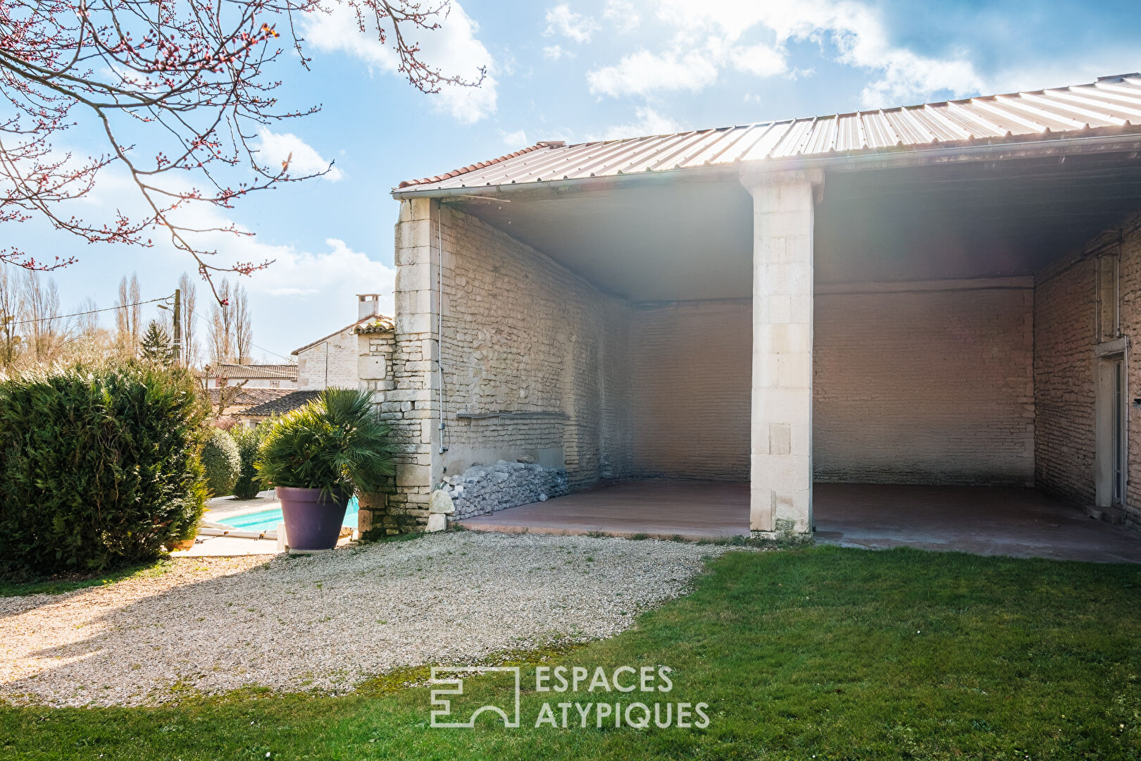
MULTIPOLYGON (((479 25, 464 13, 460 3, 453 2, 447 18, 440 22, 438 30, 415 30, 420 32, 419 37, 407 40, 408 43, 420 46, 419 55, 422 60, 439 68, 445 75, 475 81, 479 76, 479 67, 487 67, 487 76, 479 87, 445 84, 438 94, 424 96, 434 99, 437 108, 466 124, 485 119, 496 110, 495 60, 476 37, 478 30, 479 25)), ((411 31, 410 27, 405 33, 411 31)), ((343 5, 335 6, 330 13, 309 14, 305 37, 316 50, 340 50, 371 67, 404 76, 397 71, 399 59, 393 49, 380 43, 374 30, 361 32, 353 10, 343 5)), ((393 39, 391 34, 389 39, 393 39)))

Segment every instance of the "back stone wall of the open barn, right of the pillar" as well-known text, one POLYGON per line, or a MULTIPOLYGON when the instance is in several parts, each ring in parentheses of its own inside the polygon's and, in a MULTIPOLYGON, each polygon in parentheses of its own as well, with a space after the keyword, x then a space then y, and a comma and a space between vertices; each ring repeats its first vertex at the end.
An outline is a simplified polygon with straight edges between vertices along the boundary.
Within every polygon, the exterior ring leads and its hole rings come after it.
POLYGON ((1019 283, 818 290, 816 480, 1030 484, 1034 291, 1019 283))

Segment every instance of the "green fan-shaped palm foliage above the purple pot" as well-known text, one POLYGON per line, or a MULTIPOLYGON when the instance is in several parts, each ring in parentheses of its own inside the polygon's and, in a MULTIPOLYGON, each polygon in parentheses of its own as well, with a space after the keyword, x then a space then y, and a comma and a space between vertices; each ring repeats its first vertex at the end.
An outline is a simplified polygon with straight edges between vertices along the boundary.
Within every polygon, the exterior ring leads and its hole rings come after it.
POLYGON ((319 488, 323 499, 375 492, 395 475, 391 428, 367 391, 330 388, 268 428, 254 467, 266 487, 319 488))

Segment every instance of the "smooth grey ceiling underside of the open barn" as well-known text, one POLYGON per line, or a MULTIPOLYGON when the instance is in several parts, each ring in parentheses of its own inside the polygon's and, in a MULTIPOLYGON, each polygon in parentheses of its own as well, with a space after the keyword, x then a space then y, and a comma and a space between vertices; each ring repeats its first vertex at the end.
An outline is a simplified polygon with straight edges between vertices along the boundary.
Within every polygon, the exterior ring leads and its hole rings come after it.
MULTIPOLYGON (((752 199, 733 178, 448 203, 631 301, 752 292, 752 199)), ((1030 275, 1139 208, 1132 154, 831 173, 816 281, 1030 275)))

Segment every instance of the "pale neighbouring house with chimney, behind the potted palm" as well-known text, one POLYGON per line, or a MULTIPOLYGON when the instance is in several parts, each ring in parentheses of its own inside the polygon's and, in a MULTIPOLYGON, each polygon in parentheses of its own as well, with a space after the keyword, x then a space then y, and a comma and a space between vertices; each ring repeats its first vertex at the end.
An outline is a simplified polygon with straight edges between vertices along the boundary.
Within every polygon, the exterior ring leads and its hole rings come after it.
POLYGON ((293 351, 298 388, 380 388, 391 357, 393 319, 380 314, 380 296, 357 296, 357 319, 293 351))

